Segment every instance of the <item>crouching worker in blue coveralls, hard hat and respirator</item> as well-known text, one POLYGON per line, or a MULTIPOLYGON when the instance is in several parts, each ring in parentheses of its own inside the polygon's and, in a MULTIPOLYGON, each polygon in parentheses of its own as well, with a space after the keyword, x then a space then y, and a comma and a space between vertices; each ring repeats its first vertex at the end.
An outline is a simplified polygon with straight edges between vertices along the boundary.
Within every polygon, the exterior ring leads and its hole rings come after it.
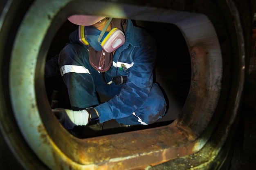
POLYGON ((153 37, 129 19, 72 15, 68 20, 79 29, 58 56, 72 107, 53 109, 60 123, 72 129, 110 119, 147 125, 162 118, 166 102, 153 83, 153 37), (112 98, 99 104, 96 92, 112 98))

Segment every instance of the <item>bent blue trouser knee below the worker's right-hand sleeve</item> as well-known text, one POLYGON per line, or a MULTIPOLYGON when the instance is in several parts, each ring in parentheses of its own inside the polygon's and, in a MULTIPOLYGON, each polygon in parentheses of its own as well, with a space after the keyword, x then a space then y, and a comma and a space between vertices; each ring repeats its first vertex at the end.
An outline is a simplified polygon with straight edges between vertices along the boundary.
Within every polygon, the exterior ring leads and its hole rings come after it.
POLYGON ((158 119, 162 118, 166 112, 166 102, 164 95, 157 84, 153 84, 152 89, 146 101, 141 104, 132 115, 117 119, 118 123, 125 125, 134 124, 152 124, 158 119))

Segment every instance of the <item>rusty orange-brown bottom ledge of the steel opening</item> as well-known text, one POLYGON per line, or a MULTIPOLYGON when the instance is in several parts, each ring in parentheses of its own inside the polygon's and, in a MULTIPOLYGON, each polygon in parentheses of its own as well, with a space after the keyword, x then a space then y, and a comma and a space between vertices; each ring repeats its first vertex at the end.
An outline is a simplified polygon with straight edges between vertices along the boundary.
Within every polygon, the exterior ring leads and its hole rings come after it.
POLYGON ((170 159, 190 155, 198 145, 191 132, 175 124, 107 135, 78 141, 77 157, 82 164, 97 164, 113 169, 136 168, 159 164, 170 159))

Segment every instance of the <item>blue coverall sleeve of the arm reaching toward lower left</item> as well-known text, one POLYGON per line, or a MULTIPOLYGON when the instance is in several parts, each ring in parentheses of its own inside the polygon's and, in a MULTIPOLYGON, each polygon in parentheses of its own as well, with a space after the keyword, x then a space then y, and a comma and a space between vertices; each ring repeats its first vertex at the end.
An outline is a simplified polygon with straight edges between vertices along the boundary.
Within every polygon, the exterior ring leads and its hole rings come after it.
POLYGON ((153 69, 156 59, 156 44, 151 36, 144 36, 140 47, 134 51, 134 65, 126 84, 119 95, 95 109, 99 113, 100 122, 110 119, 128 117, 144 103, 153 85, 153 69))

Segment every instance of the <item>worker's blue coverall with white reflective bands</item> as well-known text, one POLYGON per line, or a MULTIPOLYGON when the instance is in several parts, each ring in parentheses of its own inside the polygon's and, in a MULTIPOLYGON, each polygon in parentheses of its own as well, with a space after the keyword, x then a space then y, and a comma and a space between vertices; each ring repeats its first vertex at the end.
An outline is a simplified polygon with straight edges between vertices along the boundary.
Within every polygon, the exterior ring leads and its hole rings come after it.
POLYGON ((95 106, 100 123, 116 119, 126 125, 152 124, 166 112, 162 91, 153 83, 155 40, 144 29, 133 26, 131 20, 125 36, 126 42, 115 51, 105 79, 110 82, 112 77, 123 75, 127 76, 126 84, 106 85, 101 73, 90 65, 88 46, 79 42, 77 30, 70 34, 70 43, 59 55, 61 75, 73 110, 95 106), (112 99, 99 104, 96 91, 112 99))

